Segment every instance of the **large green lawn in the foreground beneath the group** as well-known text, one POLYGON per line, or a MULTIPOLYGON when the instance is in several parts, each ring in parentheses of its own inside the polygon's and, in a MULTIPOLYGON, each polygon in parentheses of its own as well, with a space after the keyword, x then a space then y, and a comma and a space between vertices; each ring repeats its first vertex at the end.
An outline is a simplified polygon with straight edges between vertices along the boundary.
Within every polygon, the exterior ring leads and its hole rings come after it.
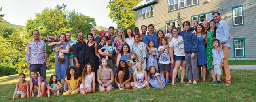
MULTIPOLYGON (((179 71, 180 72, 180 71, 179 71)), ((49 77, 54 74, 54 69, 47 70, 47 82, 49 77)), ((29 73, 25 73, 29 80, 29 73)), ((180 73, 179 77, 180 79, 180 73)), ((187 75, 185 75, 185 79, 187 75)), ((30 97, 15 99, 16 102, 78 102, 78 101, 104 101, 104 102, 170 102, 170 101, 204 101, 204 102, 224 102, 224 101, 256 101, 256 70, 231 70, 232 84, 229 86, 216 85, 213 86, 212 80, 206 82, 198 82, 197 85, 186 86, 184 84, 176 84, 172 86, 167 84, 164 89, 125 89, 120 91, 114 86, 114 91, 101 93, 98 87, 95 93, 81 95, 51 95, 51 98, 44 97, 30 97)), ((222 78, 221 78, 222 79, 222 78)), ((18 82, 18 75, 10 75, 0 77, 0 101, 10 102, 13 100, 13 92, 15 90, 15 83, 18 82)), ((186 83, 188 80, 184 80, 186 83)), ((63 81, 61 82, 63 84, 63 81)), ((36 91, 37 95, 37 91, 36 91)))

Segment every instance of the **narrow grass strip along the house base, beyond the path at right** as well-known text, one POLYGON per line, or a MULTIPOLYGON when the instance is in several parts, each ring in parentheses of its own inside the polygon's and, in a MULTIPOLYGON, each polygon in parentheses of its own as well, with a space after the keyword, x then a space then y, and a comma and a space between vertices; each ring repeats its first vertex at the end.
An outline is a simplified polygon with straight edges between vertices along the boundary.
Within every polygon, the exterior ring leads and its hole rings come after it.
POLYGON ((229 60, 228 65, 255 65, 256 60, 229 60))

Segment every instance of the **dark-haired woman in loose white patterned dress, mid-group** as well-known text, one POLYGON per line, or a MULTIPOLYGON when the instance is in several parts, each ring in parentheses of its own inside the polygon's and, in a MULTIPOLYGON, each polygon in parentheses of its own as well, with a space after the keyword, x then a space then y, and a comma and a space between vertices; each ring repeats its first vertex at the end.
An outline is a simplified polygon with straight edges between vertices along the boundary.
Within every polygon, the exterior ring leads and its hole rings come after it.
POLYGON ((138 61, 142 64, 142 68, 146 71, 146 56, 147 48, 144 42, 140 42, 140 36, 138 34, 134 35, 135 44, 133 44, 133 53, 138 57, 138 61))

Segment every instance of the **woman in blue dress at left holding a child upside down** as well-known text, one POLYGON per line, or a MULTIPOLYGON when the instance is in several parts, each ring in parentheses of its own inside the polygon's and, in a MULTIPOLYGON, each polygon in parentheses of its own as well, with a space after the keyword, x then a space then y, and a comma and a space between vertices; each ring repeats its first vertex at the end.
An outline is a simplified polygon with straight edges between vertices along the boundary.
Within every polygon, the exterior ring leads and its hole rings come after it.
POLYGON ((66 91, 68 89, 68 82, 66 82, 65 78, 66 78, 66 71, 68 69, 68 53, 69 53, 69 47, 70 44, 68 42, 66 42, 66 35, 64 33, 61 33, 59 35, 59 40, 61 40, 63 48, 64 49, 60 49, 60 50, 55 50, 55 52, 61 52, 63 54, 61 55, 56 55, 55 56, 55 75, 57 76, 57 80, 61 81, 64 80, 64 91, 66 91), (59 63, 58 62, 58 56, 63 56, 65 58, 65 61, 63 63, 59 63))

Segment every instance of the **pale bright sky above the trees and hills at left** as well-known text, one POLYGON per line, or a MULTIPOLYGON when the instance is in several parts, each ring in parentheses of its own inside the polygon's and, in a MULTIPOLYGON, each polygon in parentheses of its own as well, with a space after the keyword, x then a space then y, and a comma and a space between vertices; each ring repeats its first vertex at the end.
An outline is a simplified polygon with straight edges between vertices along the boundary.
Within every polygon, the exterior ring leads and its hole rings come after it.
POLYGON ((55 7, 57 4, 67 4, 66 10, 75 9, 83 15, 94 17, 97 26, 116 27, 116 23, 108 17, 109 0, 0 0, 0 14, 6 14, 3 19, 11 24, 25 26, 25 22, 35 13, 42 13, 44 7, 55 7))

